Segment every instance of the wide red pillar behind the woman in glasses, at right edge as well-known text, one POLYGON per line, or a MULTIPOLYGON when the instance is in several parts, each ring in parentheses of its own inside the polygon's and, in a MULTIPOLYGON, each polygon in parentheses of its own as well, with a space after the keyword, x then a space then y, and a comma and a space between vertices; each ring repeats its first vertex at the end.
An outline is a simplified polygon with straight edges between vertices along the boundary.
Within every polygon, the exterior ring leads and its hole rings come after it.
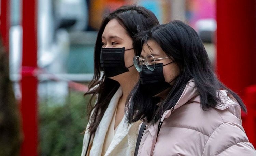
POLYGON ((240 96, 256 83, 255 0, 217 0, 217 73, 240 96))

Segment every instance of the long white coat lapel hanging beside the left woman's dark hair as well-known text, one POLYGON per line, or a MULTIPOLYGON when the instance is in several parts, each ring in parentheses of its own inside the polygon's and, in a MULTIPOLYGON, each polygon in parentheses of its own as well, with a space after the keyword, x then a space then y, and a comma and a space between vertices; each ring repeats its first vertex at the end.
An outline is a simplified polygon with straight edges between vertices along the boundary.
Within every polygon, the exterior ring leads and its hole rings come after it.
POLYGON ((109 106, 106 109, 103 118, 100 121, 100 124, 95 132, 95 136, 93 139, 93 146, 90 150, 90 156, 99 156, 102 153, 103 142, 105 140, 106 133, 108 131, 110 122, 112 120, 113 114, 115 112, 115 108, 117 103, 122 96, 123 92, 121 87, 116 91, 112 99, 110 100, 109 106))

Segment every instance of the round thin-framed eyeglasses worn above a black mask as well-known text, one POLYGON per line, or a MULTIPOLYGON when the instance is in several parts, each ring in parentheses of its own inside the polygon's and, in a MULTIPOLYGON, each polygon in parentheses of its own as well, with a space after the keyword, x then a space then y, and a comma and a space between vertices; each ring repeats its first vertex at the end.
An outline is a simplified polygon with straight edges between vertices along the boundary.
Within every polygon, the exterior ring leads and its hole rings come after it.
POLYGON ((140 72, 142 70, 143 65, 146 65, 149 70, 154 71, 154 69, 156 67, 155 60, 161 60, 161 59, 166 59, 166 58, 172 58, 172 57, 164 57, 164 58, 155 59, 153 55, 149 54, 145 57, 145 59, 142 59, 139 56, 134 56, 133 63, 138 72, 140 72))

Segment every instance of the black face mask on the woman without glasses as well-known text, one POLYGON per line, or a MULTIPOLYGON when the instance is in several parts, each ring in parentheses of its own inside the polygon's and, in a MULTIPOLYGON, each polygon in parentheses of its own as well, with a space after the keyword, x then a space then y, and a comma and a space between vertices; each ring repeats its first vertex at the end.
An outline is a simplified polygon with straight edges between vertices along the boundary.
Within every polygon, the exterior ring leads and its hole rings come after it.
MULTIPOLYGON (((133 49, 133 48, 131 48, 133 49)), ((126 49, 126 50, 131 50, 126 49)), ((103 68, 105 76, 110 78, 125 72, 130 67, 125 67, 125 47, 123 48, 101 48, 100 65, 103 68)))

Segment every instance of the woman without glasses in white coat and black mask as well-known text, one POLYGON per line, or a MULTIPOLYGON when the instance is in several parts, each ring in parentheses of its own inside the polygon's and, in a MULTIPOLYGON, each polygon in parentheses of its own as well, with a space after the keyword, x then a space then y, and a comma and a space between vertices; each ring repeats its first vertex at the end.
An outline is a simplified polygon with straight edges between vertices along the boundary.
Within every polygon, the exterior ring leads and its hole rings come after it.
POLYGON ((133 66, 133 37, 159 22, 140 6, 123 6, 105 15, 94 51, 89 84, 90 112, 82 156, 134 155, 140 122, 125 122, 125 101, 139 77, 133 66), (94 101, 95 104, 94 104, 94 101))

